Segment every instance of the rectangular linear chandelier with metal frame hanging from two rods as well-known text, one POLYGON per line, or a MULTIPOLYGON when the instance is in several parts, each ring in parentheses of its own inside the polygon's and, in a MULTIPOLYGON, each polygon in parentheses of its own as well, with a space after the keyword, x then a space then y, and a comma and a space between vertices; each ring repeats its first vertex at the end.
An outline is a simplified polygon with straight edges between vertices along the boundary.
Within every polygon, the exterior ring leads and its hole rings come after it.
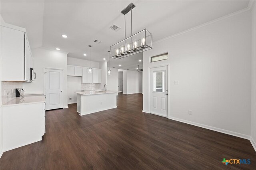
POLYGON ((124 10, 124 40, 110 46, 110 55, 111 58, 121 59, 134 55, 136 53, 141 53, 143 51, 152 49, 152 38, 153 35, 146 30, 146 28, 136 34, 132 35, 132 9, 135 8, 135 5, 131 3, 124 10), (126 21, 125 15, 131 12, 131 36, 126 38, 126 21))

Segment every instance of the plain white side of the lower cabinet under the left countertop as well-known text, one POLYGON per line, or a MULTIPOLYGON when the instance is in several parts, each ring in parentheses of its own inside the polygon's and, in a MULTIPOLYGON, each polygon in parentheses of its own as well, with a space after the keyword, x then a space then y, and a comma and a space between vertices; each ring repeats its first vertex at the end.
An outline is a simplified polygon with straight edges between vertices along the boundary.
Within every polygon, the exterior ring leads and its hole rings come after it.
POLYGON ((45 133, 44 103, 2 107, 3 151, 42 140, 45 133))

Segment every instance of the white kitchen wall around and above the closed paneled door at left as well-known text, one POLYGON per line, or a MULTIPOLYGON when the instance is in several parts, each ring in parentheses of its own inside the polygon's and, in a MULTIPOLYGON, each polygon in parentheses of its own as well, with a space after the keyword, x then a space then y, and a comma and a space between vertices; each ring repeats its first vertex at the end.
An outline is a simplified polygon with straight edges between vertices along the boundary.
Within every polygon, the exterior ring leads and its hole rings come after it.
POLYGON ((67 91, 67 54, 50 51, 44 48, 32 49, 34 57, 34 70, 36 79, 33 83, 23 83, 26 93, 43 93, 43 68, 58 68, 63 71, 63 107, 68 107, 68 91, 67 91))

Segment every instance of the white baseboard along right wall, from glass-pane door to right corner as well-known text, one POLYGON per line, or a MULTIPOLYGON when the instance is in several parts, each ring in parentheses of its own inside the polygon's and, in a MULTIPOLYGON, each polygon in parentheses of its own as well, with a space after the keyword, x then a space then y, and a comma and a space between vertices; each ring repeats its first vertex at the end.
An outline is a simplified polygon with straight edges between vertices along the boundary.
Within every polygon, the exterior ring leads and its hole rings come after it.
POLYGON ((175 118, 175 117, 169 117, 169 119, 172 119, 174 121, 179 121, 179 122, 182 122, 182 123, 187 123, 187 124, 194 125, 194 126, 197 126, 197 127, 207 128, 209 130, 214 130, 216 132, 221 132, 221 133, 229 134, 229 135, 232 135, 232 136, 236 136, 236 137, 240 137, 240 138, 244 138, 244 139, 248 139, 248 140, 250 140, 250 138, 251 138, 251 136, 246 135, 246 134, 233 132, 233 131, 225 130, 225 129, 222 129, 222 128, 211 127, 211 126, 208 126, 208 125, 202 125, 200 123, 190 122, 190 121, 186 121, 184 119, 178 119, 178 118, 175 118))

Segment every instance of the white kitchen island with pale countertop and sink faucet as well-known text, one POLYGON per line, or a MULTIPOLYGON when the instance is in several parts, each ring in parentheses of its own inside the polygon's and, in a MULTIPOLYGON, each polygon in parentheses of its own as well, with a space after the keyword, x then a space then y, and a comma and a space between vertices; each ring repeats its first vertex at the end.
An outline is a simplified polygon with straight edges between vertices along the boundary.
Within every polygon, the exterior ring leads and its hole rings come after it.
POLYGON ((77 112, 82 115, 116 108, 118 91, 79 91, 77 94, 77 112))

